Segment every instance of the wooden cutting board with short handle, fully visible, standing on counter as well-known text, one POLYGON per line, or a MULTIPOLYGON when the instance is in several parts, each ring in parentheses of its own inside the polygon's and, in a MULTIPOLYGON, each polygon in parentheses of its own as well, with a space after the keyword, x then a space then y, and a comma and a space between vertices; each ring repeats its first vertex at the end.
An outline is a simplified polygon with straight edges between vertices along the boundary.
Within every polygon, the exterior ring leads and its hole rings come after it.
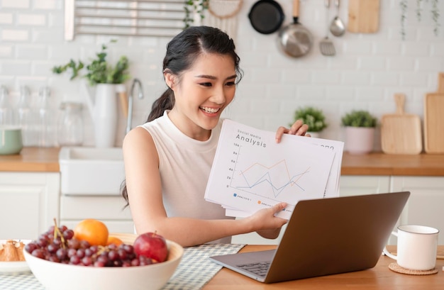
POLYGON ((419 154, 423 150, 421 118, 404 112, 404 94, 394 94, 396 113, 382 116, 381 147, 387 154, 419 154))

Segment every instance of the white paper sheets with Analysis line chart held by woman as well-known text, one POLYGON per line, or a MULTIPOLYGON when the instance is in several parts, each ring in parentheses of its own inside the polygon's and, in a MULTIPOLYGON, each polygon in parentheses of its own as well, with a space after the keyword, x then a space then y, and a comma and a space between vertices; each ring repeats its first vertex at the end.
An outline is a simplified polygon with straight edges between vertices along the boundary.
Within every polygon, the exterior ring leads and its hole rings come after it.
POLYGON ((288 219, 300 200, 338 196, 343 142, 275 134, 223 121, 205 199, 236 217, 284 201, 288 219))

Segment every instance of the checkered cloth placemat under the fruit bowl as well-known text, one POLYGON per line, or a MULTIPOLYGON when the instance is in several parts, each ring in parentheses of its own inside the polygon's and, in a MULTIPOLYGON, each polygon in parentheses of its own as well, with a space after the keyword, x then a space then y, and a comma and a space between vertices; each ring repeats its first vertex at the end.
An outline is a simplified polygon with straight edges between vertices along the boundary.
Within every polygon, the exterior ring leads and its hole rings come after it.
MULTIPOLYGON (((170 281, 162 290, 197 290, 222 268, 208 257, 234 254, 245 245, 206 244, 186 247, 184 256, 170 281)), ((0 290, 45 290, 32 273, 0 274, 0 290)))

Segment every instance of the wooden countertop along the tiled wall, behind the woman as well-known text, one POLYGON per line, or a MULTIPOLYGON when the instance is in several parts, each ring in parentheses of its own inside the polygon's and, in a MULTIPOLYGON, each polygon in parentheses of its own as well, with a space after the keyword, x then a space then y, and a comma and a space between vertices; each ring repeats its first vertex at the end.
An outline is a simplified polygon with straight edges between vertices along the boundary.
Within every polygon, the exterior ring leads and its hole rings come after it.
MULTIPOLYGON (((24 147, 19 155, 0 155, 0 172, 59 172, 60 148, 24 147)), ((389 155, 345 152, 342 175, 444 176, 444 155, 389 155)))

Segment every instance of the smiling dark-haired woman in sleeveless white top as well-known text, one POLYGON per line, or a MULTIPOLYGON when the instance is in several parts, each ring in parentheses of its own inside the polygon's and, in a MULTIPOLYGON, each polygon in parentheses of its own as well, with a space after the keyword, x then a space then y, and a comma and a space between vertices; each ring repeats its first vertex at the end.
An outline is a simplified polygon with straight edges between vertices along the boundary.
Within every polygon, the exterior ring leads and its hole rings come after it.
MULTIPOLYGON (((154 232, 184 247, 230 242, 231 235, 256 231, 277 238, 287 221, 274 213, 287 204, 234 220, 204 200, 206 182, 221 131, 221 113, 233 101, 242 78, 233 40, 217 28, 191 27, 167 45, 163 74, 168 89, 152 105, 147 123, 123 141, 126 187, 137 233, 154 232)), ((296 121, 284 133, 305 135, 296 121)))

